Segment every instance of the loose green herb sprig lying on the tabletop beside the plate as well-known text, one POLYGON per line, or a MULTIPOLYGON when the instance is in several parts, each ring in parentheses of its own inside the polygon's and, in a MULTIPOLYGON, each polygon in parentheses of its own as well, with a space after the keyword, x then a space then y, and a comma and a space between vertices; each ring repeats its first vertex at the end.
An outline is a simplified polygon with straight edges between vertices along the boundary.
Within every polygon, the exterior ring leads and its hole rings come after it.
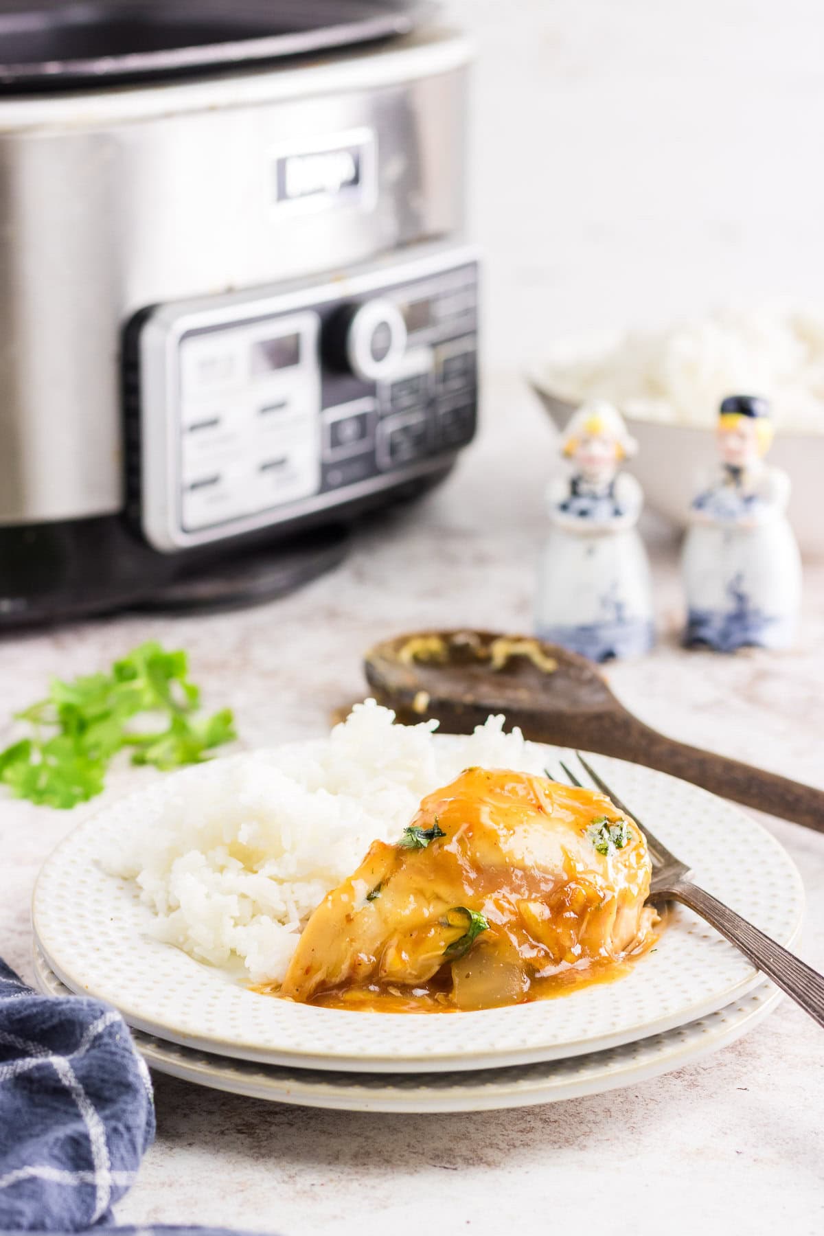
POLYGON ((100 794, 111 759, 125 747, 132 748, 132 764, 199 764, 236 737, 229 708, 195 716, 199 698, 187 654, 168 653, 154 640, 115 661, 109 674, 52 679, 47 698, 16 714, 30 734, 0 751, 0 782, 17 798, 68 808, 100 794), (159 717, 161 726, 128 727, 136 717, 159 717))

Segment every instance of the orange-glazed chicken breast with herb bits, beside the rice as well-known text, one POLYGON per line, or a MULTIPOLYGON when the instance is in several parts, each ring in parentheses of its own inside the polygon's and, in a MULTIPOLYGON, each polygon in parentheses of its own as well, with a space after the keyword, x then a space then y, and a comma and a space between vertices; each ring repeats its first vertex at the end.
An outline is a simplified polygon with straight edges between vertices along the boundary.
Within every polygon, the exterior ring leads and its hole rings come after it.
POLYGON ((280 995, 378 1007, 390 994, 410 1009, 537 999, 552 978, 642 950, 650 871, 641 829, 604 795, 467 769, 317 906, 280 995))

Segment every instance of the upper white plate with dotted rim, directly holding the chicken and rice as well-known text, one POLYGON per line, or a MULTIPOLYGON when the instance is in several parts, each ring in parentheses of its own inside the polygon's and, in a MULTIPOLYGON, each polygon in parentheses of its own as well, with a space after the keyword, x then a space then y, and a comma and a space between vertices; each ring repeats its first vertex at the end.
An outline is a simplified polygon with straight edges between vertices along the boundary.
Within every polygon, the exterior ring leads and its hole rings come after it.
MULTIPOLYGON (((448 742, 444 737, 440 742, 448 742)), ((535 748, 532 748, 535 751, 535 748)), ((539 748, 547 766, 557 760, 539 748)), ((245 759, 235 756, 233 759, 245 759)), ((802 883, 781 845, 751 817, 660 772, 594 756, 616 794, 698 880, 782 944, 798 932, 802 883)), ((557 764, 556 764, 557 766, 557 764)), ((556 1000, 481 1012, 423 1015, 315 1009, 262 996, 149 934, 137 887, 107 875, 112 840, 145 828, 201 765, 157 780, 72 833, 35 889, 43 954, 73 991, 116 1005, 137 1030, 184 1047, 257 1060, 372 1073, 477 1069, 597 1052, 696 1021, 760 981, 752 965, 691 911, 673 910, 654 952, 625 978, 556 1000)))

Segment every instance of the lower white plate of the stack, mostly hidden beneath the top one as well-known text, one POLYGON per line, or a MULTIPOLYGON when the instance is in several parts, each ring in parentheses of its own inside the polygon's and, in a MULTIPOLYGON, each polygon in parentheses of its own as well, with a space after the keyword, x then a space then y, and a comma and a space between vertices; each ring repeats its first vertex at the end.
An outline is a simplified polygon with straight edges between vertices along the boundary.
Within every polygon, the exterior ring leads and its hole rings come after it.
MULTIPOLYGON (((42 991, 67 994, 67 988, 37 950, 35 971, 42 991)), ((394 1078, 227 1060, 166 1043, 140 1031, 135 1032, 135 1041, 146 1063, 159 1073, 252 1099, 343 1111, 489 1111, 600 1094, 683 1068, 747 1033, 781 999, 781 991, 772 983, 761 983, 741 1000, 699 1021, 607 1052, 515 1068, 406 1073, 394 1078)))

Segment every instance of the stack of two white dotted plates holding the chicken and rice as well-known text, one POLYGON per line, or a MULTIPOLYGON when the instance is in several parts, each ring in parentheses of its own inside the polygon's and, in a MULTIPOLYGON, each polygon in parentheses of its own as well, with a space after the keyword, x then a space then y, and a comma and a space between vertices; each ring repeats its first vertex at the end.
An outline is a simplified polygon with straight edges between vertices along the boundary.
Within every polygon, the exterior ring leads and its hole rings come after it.
MULTIPOLYGON (((563 753, 542 754, 551 766, 563 753)), ((801 878, 760 824, 686 782, 595 759, 616 794, 693 865, 698 883, 780 943, 797 944, 801 878)), ((137 887, 101 865, 166 795, 179 796, 203 775, 195 768, 157 781, 82 824, 47 860, 35 891, 41 988, 114 1004, 161 1072, 317 1107, 481 1111, 594 1094, 681 1068, 746 1033, 780 999, 746 958, 682 907, 625 978, 555 1000, 410 1016, 259 995, 157 941, 137 887)))

